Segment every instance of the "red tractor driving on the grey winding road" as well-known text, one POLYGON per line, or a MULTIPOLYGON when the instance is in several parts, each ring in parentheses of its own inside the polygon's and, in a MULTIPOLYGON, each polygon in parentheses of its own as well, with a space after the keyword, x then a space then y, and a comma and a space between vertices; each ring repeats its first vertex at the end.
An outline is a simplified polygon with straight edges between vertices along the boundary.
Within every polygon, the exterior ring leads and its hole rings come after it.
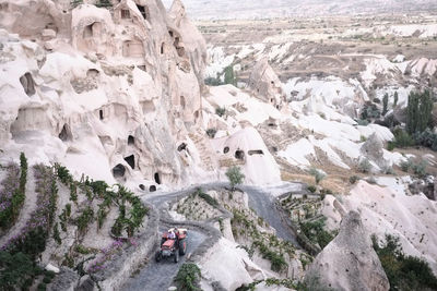
POLYGON ((161 262, 163 258, 173 256, 175 263, 179 262, 179 256, 184 256, 187 252, 187 229, 169 229, 163 233, 161 239, 161 250, 156 252, 155 260, 161 262), (176 239, 169 239, 168 233, 173 231, 176 239))

